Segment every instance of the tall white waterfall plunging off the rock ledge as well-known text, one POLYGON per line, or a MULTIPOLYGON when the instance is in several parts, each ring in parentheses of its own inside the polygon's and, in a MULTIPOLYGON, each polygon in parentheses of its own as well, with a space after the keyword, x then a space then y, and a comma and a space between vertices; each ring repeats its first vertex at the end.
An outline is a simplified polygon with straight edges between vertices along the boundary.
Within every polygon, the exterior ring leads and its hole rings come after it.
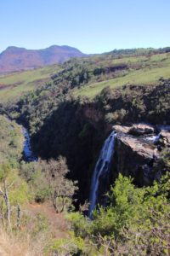
POLYGON ((116 132, 112 131, 110 136, 106 138, 103 148, 99 154, 99 160, 94 168, 94 174, 92 177, 91 190, 90 190, 90 207, 88 216, 91 218, 91 214, 94 210, 99 195, 99 177, 102 175, 108 176, 111 167, 111 158, 114 154, 116 132))

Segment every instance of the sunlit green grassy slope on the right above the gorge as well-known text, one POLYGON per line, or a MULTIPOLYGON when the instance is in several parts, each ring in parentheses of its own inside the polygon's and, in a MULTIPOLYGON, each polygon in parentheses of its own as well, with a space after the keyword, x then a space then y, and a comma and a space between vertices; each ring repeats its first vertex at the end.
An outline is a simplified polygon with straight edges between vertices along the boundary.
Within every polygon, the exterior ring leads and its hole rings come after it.
POLYGON ((170 78, 170 55, 152 55, 151 57, 126 57, 112 61, 112 64, 128 63, 128 64, 142 64, 139 70, 129 70, 125 76, 105 80, 103 82, 88 84, 79 90, 75 90, 75 96, 94 97, 106 86, 116 88, 123 84, 156 84, 161 78, 170 78))

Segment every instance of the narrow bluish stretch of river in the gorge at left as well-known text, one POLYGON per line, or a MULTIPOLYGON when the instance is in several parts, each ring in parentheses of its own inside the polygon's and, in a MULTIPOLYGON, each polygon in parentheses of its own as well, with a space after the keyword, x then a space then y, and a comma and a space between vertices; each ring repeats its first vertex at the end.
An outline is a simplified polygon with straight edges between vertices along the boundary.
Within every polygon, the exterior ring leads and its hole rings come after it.
POLYGON ((23 147, 24 157, 28 162, 36 162, 37 157, 35 156, 35 154, 33 154, 31 150, 31 138, 30 138, 29 132, 26 130, 25 127, 22 127, 22 133, 25 137, 24 147, 23 147))

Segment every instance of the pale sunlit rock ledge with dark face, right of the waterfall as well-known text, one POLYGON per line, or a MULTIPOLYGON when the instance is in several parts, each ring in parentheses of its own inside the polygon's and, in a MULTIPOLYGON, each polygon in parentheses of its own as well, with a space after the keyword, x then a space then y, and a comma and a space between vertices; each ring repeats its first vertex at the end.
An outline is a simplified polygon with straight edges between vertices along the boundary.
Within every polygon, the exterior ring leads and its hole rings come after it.
POLYGON ((114 125, 113 129, 117 132, 115 172, 134 177, 139 185, 149 185, 159 179, 161 172, 155 172, 153 164, 159 158, 161 148, 170 147, 170 131, 161 130, 155 144, 158 128, 152 125, 114 125))

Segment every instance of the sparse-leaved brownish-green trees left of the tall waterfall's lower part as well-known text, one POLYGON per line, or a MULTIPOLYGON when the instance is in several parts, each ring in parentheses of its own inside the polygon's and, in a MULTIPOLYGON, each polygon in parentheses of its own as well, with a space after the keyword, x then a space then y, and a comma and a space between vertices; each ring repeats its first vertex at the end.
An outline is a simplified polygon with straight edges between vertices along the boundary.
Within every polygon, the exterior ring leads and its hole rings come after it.
POLYGON ((57 213, 65 212, 72 207, 72 197, 78 189, 76 181, 72 182, 66 178, 68 172, 70 171, 65 158, 61 156, 58 160, 48 162, 22 162, 20 166, 20 175, 28 183, 34 201, 49 201, 57 213))

